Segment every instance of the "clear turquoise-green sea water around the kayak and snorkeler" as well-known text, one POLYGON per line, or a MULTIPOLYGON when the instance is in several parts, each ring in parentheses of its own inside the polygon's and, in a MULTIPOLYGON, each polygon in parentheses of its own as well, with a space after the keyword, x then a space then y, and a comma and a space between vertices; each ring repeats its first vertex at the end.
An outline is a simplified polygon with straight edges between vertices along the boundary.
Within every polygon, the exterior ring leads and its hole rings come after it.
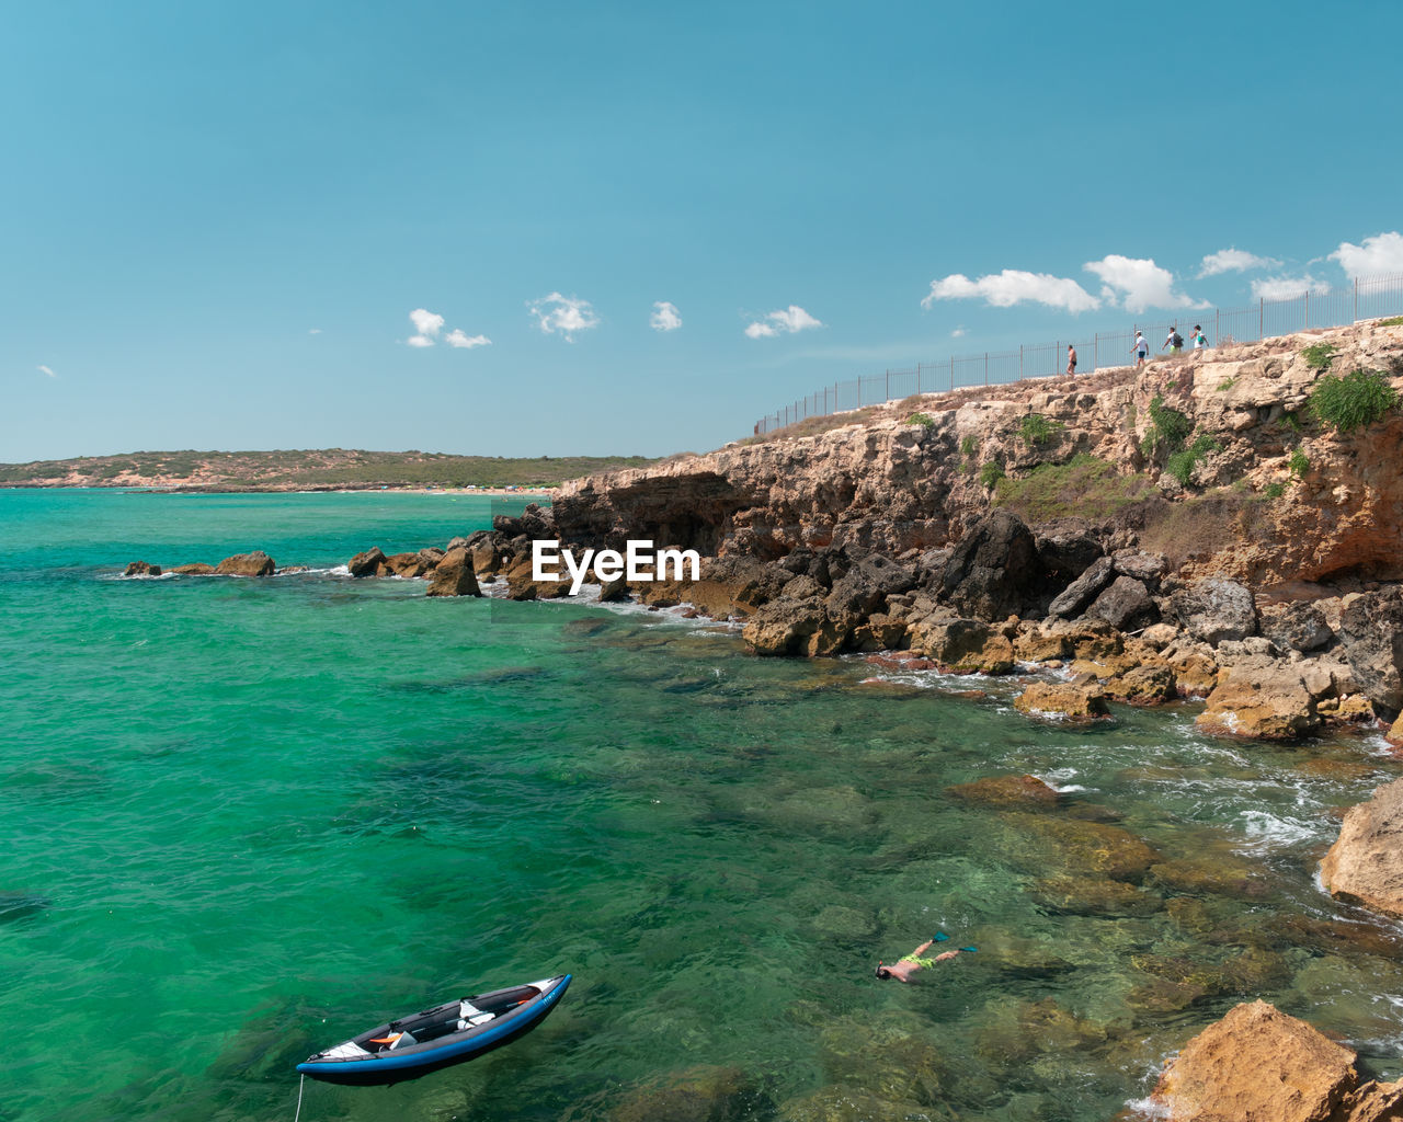
POLYGON ((0 910, 0 1119, 290 1119, 310 1052, 565 971, 521 1042, 309 1081, 302 1118, 661 1118, 697 1069, 741 1088, 730 1118, 1104 1119, 1257 996, 1403 1070, 1403 944, 1315 881, 1340 808, 1403 774, 1376 741, 1228 745, 1191 708, 1044 726, 1012 682, 334 571, 488 520, 0 492, 0 909, 46 902, 0 910), (118 578, 250 548, 314 571, 118 578), (946 790, 1006 773, 1066 805, 946 790), (1157 871, 1087 906, 1118 830, 1157 871), (979 952, 871 976, 937 926, 979 952))

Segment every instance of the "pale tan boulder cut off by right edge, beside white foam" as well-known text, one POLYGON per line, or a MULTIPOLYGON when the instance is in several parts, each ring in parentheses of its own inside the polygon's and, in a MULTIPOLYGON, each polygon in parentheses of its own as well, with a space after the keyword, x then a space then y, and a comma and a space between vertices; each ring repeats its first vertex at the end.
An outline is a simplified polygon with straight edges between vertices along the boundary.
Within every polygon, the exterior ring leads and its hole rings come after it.
POLYGON ((1403 780, 1351 806, 1320 863, 1331 896, 1403 916, 1403 780))

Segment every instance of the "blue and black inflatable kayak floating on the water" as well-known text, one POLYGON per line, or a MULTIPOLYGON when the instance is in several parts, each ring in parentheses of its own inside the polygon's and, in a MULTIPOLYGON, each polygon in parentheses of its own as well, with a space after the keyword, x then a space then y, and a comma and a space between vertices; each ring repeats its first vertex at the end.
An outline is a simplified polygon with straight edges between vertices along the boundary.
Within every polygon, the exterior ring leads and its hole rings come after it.
POLYGON ((297 1070, 327 1083, 373 1087, 477 1059, 544 1021, 571 978, 474 993, 400 1017, 310 1056, 297 1070))

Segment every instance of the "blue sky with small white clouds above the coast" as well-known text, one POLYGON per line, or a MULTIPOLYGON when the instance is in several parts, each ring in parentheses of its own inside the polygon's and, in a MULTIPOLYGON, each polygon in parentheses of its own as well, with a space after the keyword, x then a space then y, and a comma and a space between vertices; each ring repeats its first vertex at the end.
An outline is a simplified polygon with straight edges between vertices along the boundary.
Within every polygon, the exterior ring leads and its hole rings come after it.
POLYGON ((0 8, 0 461, 703 452, 1403 272, 1396 0, 0 8))

